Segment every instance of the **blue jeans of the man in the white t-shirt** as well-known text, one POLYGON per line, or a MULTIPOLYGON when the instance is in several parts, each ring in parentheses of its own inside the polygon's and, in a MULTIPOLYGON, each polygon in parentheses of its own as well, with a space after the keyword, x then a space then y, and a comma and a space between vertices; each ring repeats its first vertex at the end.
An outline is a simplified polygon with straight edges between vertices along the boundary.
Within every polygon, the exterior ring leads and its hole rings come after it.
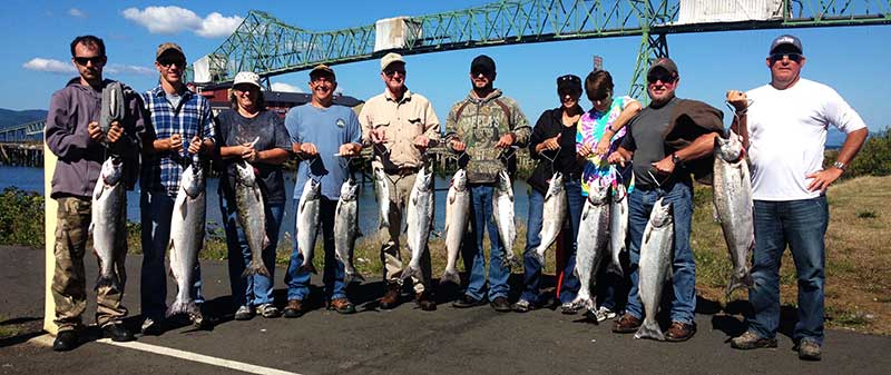
POLYGON ((825 196, 813 199, 755 200, 754 286, 748 300, 754 316, 748 329, 774 337, 780 327, 780 260, 789 245, 799 278, 799 323, 792 338, 823 343, 823 283, 829 225, 825 196))

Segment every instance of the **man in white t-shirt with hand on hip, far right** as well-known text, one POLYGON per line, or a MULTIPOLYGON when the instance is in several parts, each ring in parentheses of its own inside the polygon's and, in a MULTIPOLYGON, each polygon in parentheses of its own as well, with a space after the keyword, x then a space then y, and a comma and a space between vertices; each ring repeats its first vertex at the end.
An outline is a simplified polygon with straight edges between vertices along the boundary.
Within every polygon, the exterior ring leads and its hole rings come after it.
POLYGON ((799 280, 799 322, 793 330, 799 358, 820 361, 823 344, 823 282, 829 225, 825 191, 863 146, 868 130, 848 102, 829 86, 801 78, 801 40, 781 36, 766 59, 771 83, 745 93, 727 91, 737 116, 732 129, 743 137, 752 165, 755 251, 753 316, 748 329, 731 341, 737 349, 776 347, 780 326, 780 259, 789 245, 799 280), (839 157, 823 169, 826 130, 844 131, 839 157))

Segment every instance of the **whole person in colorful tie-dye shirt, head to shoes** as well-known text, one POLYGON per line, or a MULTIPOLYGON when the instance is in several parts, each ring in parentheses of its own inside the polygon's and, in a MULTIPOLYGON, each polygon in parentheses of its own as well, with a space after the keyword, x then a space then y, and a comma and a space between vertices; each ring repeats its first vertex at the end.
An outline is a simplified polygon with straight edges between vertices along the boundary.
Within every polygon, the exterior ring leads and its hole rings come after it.
MULTIPOLYGON (((618 148, 625 137, 625 125, 640 111, 640 103, 630 97, 613 98, 613 77, 606 70, 593 71, 585 79, 585 92, 593 108, 581 116, 576 134, 578 156, 586 160, 581 172, 581 194, 588 195, 591 186, 610 186, 610 196, 616 193, 618 184, 630 191, 631 166, 627 164, 620 170, 606 161, 607 155, 618 148)), ((611 215, 613 213, 610 213, 611 215)), ((627 285, 620 276, 600 267, 596 274, 598 308, 594 312, 597 322, 616 316, 621 309, 616 296, 627 292, 627 285)))

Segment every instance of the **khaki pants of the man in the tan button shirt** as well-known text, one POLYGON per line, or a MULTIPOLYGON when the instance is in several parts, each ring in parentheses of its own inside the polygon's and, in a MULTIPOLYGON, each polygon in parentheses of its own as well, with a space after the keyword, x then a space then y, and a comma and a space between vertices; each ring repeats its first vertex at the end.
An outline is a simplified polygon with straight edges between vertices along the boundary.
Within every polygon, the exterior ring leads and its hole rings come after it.
MULTIPOLYGON (((386 187, 390 193, 390 227, 381 228, 381 238, 383 238, 381 261, 384 265, 384 279, 389 283, 402 283, 402 256, 400 254, 399 235, 402 234, 402 217, 408 208, 409 195, 417 176, 417 174, 405 176, 386 175, 386 187)), ((409 257, 411 257, 411 253, 409 253, 409 257)), ((427 246, 421 253, 421 273, 423 274, 423 280, 412 277, 414 293, 423 293, 425 286, 430 284, 430 248, 427 246)))

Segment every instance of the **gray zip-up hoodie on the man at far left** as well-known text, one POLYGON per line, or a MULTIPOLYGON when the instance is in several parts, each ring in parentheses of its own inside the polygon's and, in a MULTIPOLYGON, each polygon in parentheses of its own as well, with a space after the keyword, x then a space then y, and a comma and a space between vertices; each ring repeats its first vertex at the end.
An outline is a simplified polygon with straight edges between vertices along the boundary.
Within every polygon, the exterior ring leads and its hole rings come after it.
MULTIPOLYGON (((112 82, 102 81, 102 87, 112 82)), ((141 99, 138 95, 127 95, 127 114, 125 115, 124 137, 111 146, 111 151, 125 159, 127 189, 131 189, 139 176, 138 158, 145 124, 141 112, 141 99)), ((59 160, 52 175, 52 193, 50 197, 65 196, 89 197, 99 178, 102 161, 108 157, 101 144, 90 140, 87 126, 99 121, 102 91, 80 83, 76 77, 68 81, 63 89, 52 93, 47 114, 45 136, 47 147, 59 160)))

